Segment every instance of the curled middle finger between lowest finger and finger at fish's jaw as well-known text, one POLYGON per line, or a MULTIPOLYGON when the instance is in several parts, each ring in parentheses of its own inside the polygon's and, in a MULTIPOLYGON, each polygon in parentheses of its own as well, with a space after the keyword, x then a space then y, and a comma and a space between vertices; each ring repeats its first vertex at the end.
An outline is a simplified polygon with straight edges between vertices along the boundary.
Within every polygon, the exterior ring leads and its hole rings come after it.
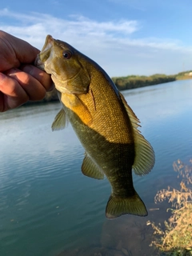
POLYGON ((6 74, 18 81, 20 86, 22 86, 22 89, 26 91, 26 94, 31 101, 39 101, 45 97, 45 87, 30 74, 18 69, 10 69, 6 74))

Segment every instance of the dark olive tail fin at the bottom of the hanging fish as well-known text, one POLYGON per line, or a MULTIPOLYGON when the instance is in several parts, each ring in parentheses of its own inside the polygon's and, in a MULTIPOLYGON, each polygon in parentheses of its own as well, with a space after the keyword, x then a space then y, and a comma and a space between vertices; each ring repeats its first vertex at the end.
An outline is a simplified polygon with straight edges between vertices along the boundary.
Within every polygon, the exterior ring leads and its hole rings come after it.
POLYGON ((106 205, 106 218, 118 218, 122 214, 134 214, 146 216, 147 210, 144 202, 135 191, 134 196, 130 198, 116 198, 110 195, 106 205))

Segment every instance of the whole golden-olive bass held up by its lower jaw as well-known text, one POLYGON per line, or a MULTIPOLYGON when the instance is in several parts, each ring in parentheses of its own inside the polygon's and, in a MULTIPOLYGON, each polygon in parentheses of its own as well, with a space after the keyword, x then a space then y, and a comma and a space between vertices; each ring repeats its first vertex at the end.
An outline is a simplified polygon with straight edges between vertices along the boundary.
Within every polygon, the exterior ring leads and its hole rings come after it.
POLYGON ((140 122, 106 71, 67 42, 46 36, 35 65, 51 75, 62 109, 52 130, 70 122, 85 149, 82 174, 107 178, 111 186, 106 218, 146 216, 134 189, 134 174, 148 174, 154 150, 138 130, 140 122))

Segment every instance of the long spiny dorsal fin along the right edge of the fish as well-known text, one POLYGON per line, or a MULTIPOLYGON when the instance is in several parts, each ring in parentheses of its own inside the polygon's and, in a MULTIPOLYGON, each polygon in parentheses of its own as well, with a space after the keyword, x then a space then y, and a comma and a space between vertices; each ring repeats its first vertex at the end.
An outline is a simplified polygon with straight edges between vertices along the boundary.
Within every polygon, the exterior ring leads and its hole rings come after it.
POLYGON ((142 136, 141 132, 138 130, 139 120, 134 114, 134 111, 131 110, 130 106, 126 103, 126 99, 121 93, 119 93, 122 98, 122 102, 126 108, 126 112, 129 115, 130 122, 132 123, 134 130, 134 149, 135 149, 135 158, 134 158, 134 173, 137 175, 148 174, 154 166, 154 150, 150 145, 150 142, 142 136))

